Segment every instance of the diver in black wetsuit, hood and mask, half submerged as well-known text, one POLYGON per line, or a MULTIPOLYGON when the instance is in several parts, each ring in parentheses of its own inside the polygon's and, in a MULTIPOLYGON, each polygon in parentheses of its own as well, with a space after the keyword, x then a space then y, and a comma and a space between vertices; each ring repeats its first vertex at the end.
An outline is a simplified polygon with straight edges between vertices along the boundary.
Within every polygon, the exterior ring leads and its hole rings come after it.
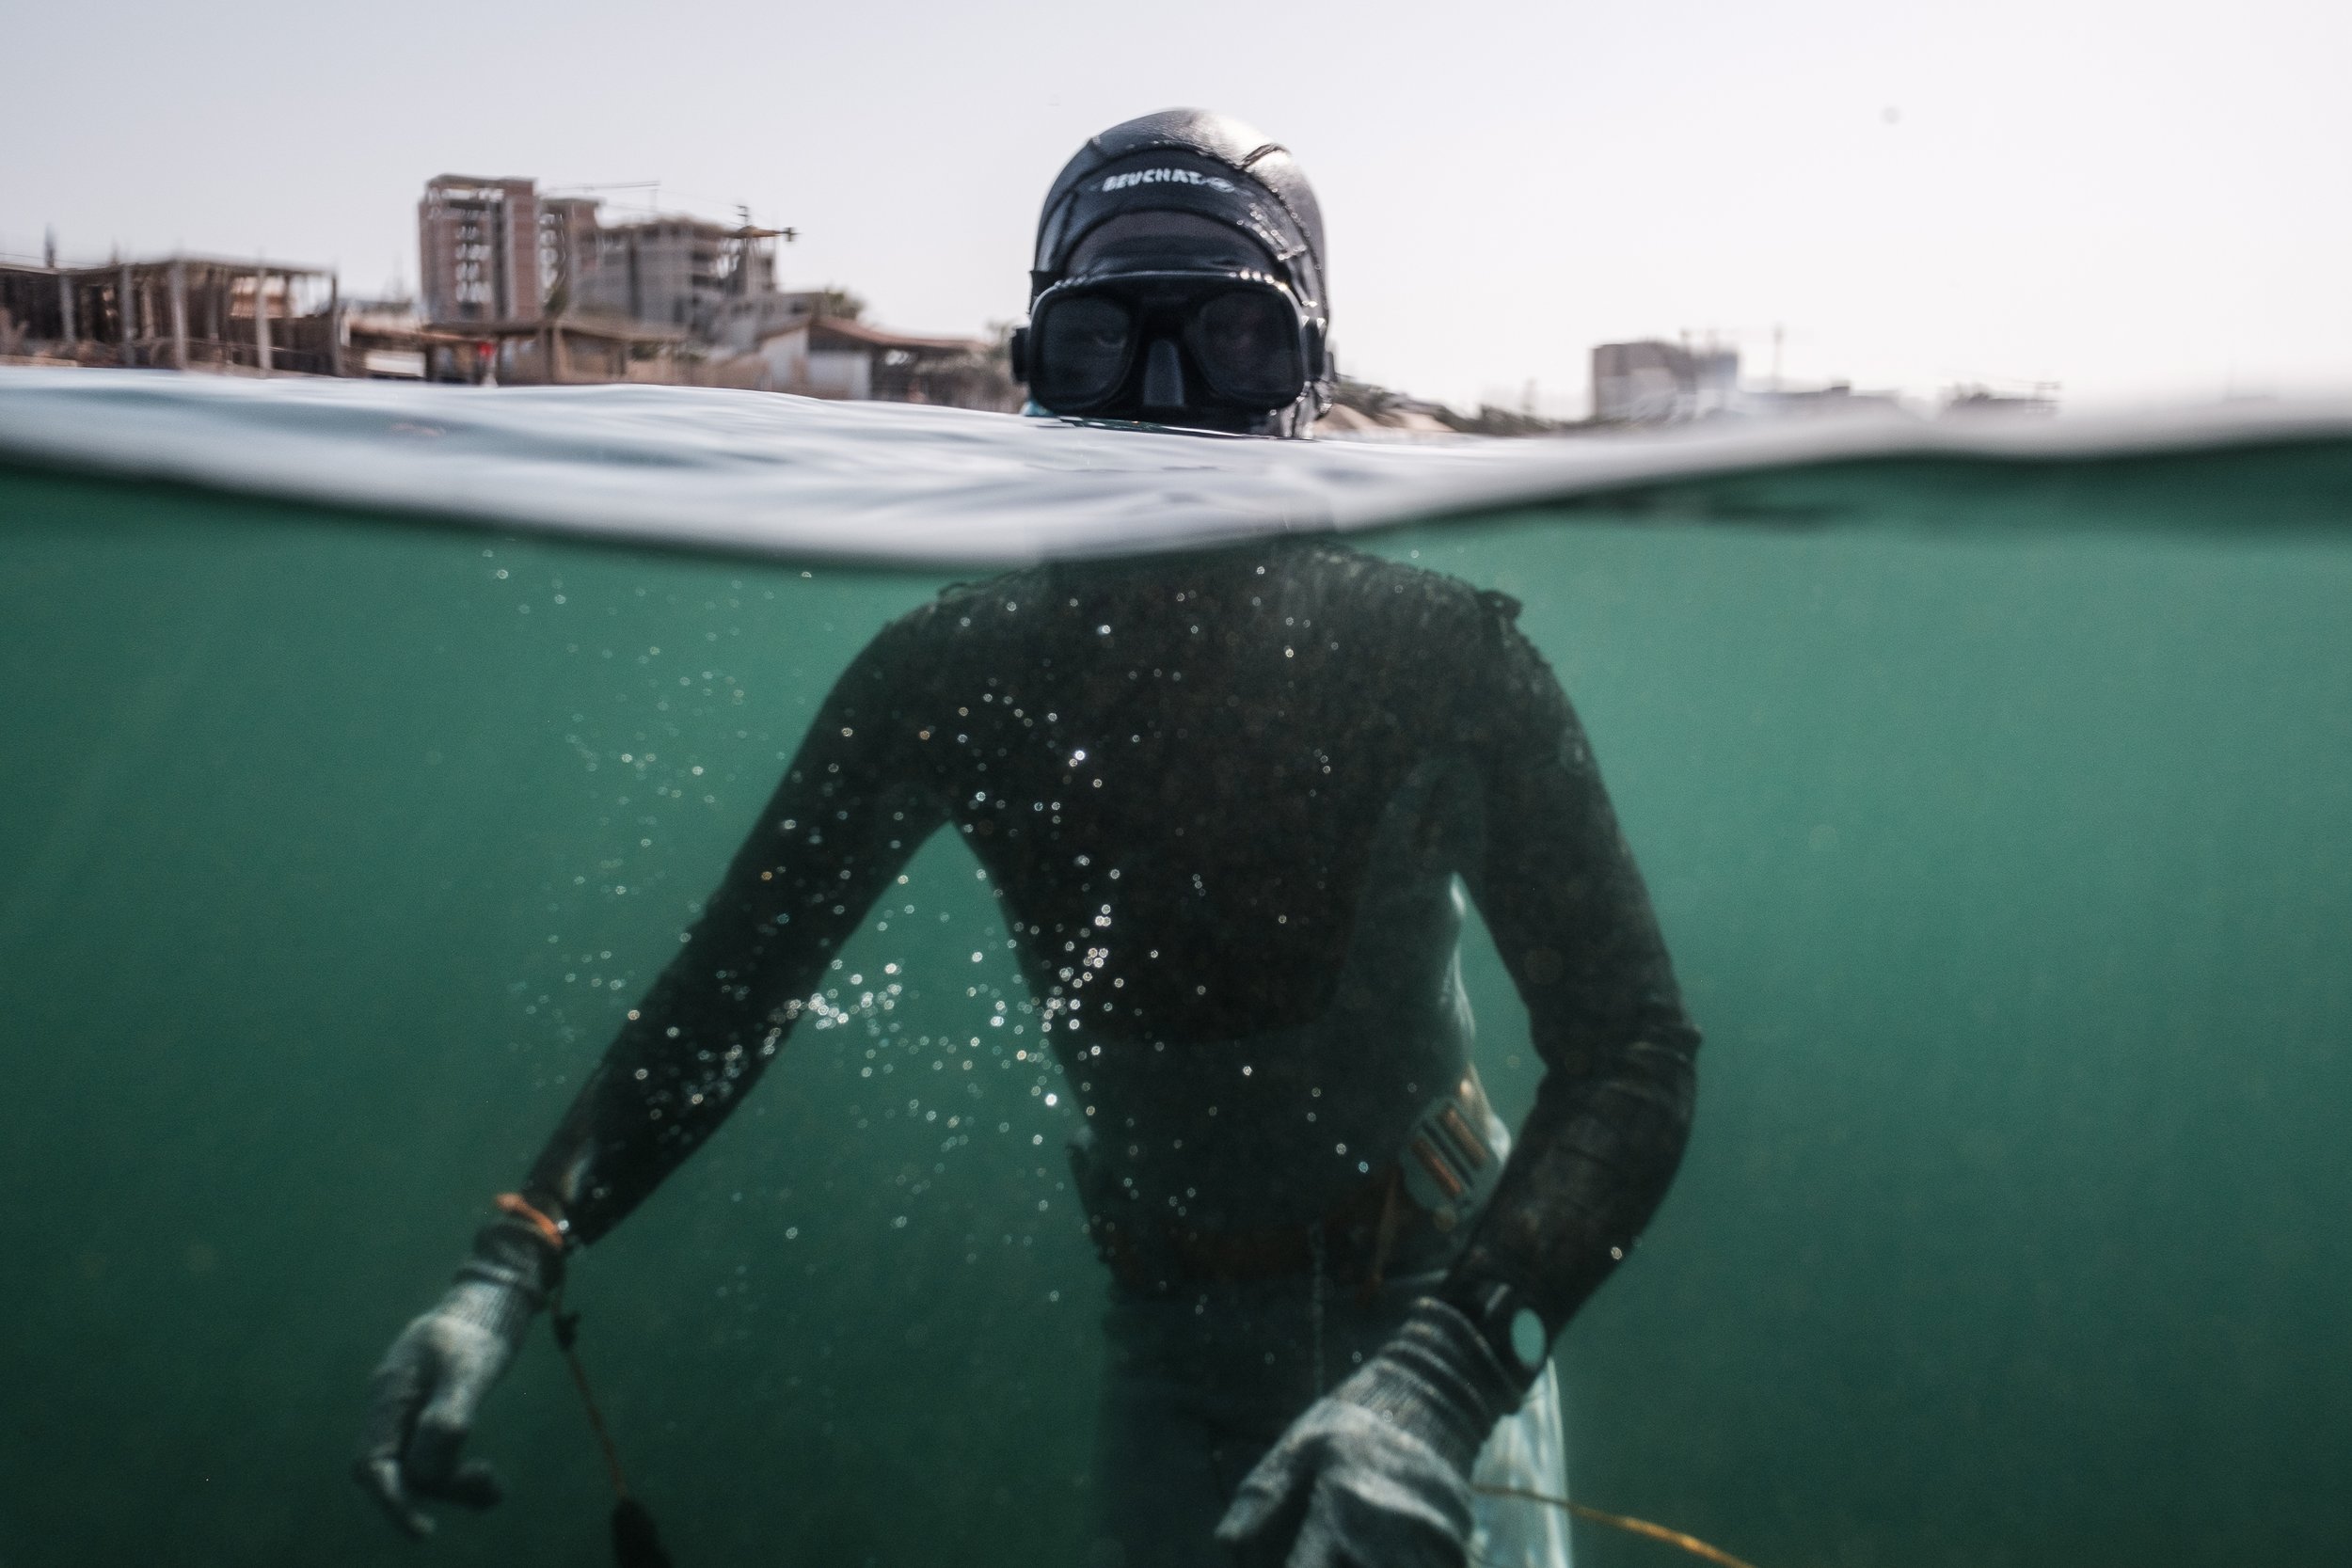
MULTIPOLYGON (((1169 110, 1037 226, 1044 414, 1303 437, 1322 216, 1291 155, 1169 110)), ((473 1415, 567 1258, 741 1105, 833 954, 953 830, 1077 1112, 1110 1272, 1096 1537, 1127 1568, 1552 1568, 1550 1345, 1682 1159, 1698 1034, 1583 729, 1496 592, 1331 541, 946 590, 833 686, 677 959, 449 1293, 374 1373, 355 1474, 407 1530, 487 1505, 473 1415), (1545 1065, 1470 1065, 1463 893, 1545 1065)))

